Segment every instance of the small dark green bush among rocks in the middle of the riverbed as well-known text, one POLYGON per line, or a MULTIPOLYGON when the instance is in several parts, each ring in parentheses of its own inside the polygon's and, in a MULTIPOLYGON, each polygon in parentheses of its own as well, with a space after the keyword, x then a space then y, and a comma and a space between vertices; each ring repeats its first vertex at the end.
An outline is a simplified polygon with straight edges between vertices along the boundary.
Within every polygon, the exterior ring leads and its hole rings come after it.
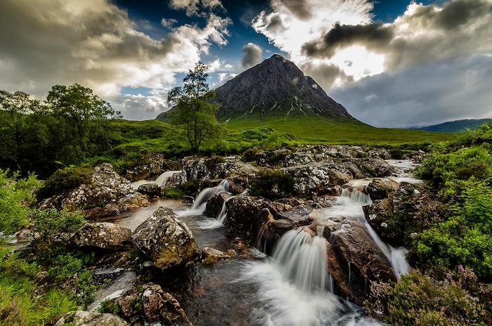
POLYGON ((271 200, 294 193, 294 178, 286 171, 261 169, 251 182, 250 194, 271 200))

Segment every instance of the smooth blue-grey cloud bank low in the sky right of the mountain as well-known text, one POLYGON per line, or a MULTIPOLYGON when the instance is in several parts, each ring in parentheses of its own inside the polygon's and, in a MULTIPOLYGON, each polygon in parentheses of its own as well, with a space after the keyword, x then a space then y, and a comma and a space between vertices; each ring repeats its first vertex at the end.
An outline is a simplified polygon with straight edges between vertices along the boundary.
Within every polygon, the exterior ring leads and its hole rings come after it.
POLYGON ((492 56, 439 61, 332 89, 351 115, 373 126, 406 127, 492 117, 492 56))

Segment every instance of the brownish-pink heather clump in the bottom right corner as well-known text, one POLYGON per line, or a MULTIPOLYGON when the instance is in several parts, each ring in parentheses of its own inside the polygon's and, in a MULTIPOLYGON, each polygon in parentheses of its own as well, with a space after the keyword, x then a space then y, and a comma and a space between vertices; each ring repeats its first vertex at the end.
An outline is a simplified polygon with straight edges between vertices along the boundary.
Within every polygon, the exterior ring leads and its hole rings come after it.
POLYGON ((450 274, 436 281, 413 270, 396 283, 373 283, 365 304, 389 325, 491 325, 486 300, 468 292, 464 283, 463 277, 450 274))

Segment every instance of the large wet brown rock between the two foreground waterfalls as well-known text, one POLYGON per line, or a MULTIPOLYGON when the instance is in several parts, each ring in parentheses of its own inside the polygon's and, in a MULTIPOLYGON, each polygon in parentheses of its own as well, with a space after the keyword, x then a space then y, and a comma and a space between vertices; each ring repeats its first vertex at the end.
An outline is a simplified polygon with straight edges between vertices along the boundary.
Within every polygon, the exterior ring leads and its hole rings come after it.
POLYGON ((328 240, 328 272, 339 294, 362 304, 370 281, 396 281, 389 261, 361 223, 330 221, 323 236, 328 240))

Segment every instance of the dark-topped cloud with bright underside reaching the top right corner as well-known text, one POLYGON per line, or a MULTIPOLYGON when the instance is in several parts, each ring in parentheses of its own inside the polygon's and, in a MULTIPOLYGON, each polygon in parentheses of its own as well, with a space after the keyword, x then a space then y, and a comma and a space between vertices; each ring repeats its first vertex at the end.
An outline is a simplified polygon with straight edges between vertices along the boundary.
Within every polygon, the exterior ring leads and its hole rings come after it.
POLYGON ((492 48, 492 2, 455 0, 442 6, 411 4, 391 24, 338 25, 302 46, 308 57, 332 58, 336 51, 362 45, 386 56, 389 70, 439 58, 487 53, 492 48))

